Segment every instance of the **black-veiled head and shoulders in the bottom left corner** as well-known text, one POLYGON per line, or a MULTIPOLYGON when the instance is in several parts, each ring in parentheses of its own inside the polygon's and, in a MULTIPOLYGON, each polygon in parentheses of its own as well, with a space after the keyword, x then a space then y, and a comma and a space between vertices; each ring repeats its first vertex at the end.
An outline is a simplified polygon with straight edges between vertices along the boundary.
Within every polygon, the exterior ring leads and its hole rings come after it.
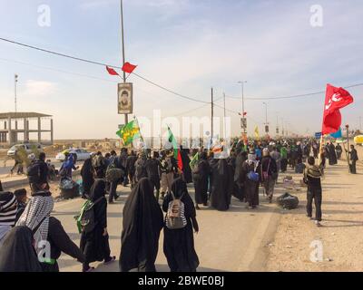
POLYGON ((13 227, 0 247, 0 272, 42 272, 29 227, 13 227))

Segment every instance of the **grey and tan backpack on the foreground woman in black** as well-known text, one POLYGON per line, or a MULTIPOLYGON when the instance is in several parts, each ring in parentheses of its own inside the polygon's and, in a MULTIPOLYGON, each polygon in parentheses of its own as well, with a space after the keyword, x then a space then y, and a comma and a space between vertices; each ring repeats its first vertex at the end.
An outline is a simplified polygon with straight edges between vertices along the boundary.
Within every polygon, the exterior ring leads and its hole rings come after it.
MULTIPOLYGON (((182 194, 183 197, 184 194, 182 194)), ((169 229, 183 228, 187 225, 185 218, 185 207, 181 198, 175 198, 172 193, 172 201, 169 202, 168 211, 165 217, 165 226, 169 229)))

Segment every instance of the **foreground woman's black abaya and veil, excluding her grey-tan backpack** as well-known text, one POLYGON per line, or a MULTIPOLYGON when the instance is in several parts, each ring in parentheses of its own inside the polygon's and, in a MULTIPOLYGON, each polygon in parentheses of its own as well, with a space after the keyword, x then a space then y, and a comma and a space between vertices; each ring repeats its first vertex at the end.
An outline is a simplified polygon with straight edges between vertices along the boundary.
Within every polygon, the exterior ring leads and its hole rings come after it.
MULTIPOLYGON (((187 185, 181 178, 172 182, 172 193, 175 198, 182 197, 187 225, 178 229, 164 227, 164 254, 172 272, 195 272, 199 266, 199 259, 194 248, 193 228, 195 232, 198 232, 199 226, 194 204, 187 185)), ((164 212, 168 211, 171 201, 172 194, 168 193, 162 203, 164 212)))

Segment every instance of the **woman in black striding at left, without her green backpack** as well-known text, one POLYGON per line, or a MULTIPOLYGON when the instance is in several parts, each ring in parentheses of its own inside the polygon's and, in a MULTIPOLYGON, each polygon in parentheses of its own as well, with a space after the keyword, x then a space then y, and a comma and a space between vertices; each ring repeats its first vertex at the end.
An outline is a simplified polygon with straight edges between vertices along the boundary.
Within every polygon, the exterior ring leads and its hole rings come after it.
POLYGON ((107 265, 115 260, 115 256, 110 256, 109 236, 107 232, 107 200, 104 197, 106 183, 103 179, 95 179, 91 192, 90 201, 93 203, 93 213, 88 215, 91 227, 86 226, 82 230, 81 250, 85 257, 83 262, 83 272, 90 272, 94 268, 90 263, 103 261, 107 265))

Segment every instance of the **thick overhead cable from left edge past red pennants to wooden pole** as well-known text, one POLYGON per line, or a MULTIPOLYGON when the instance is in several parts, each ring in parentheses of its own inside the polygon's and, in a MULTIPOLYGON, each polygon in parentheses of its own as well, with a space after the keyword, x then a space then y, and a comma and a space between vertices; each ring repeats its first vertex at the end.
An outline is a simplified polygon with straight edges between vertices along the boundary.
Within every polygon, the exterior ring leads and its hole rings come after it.
MULTIPOLYGON (((40 51, 40 52, 43 52, 43 53, 51 53, 51 54, 54 54, 54 55, 57 55, 57 56, 62 56, 62 57, 65 57, 65 58, 69 58, 69 59, 72 59, 74 61, 79 61, 79 62, 83 62, 83 63, 92 63, 92 64, 96 64, 96 65, 102 65, 103 67, 104 66, 108 66, 108 67, 112 67, 112 68, 115 68, 115 69, 121 69, 122 70, 122 67, 120 66, 117 66, 117 65, 112 65, 112 64, 107 64, 107 63, 100 63, 100 62, 95 62, 95 61, 91 61, 91 60, 88 60, 88 59, 84 59, 84 58, 81 58, 81 57, 77 57, 77 56, 73 56, 73 55, 69 55, 69 54, 64 54, 64 53, 57 53, 57 52, 54 52, 54 51, 50 51, 50 50, 47 50, 47 49, 44 49, 44 48, 41 48, 41 47, 38 47, 38 46, 34 46, 34 45, 29 45, 29 44, 25 44, 25 43, 19 43, 19 42, 15 42, 13 40, 10 40, 10 39, 6 39, 6 38, 3 38, 3 37, 0 37, 0 40, 1 41, 4 41, 6 43, 13 43, 13 44, 16 44, 16 45, 20 45, 20 46, 23 46, 23 47, 26 47, 26 48, 30 48, 30 49, 34 49, 34 50, 37 50, 37 51, 40 51)), ((210 102, 205 102, 205 101, 201 101, 201 100, 198 100, 198 99, 195 99, 195 98, 191 98, 191 97, 188 97, 188 96, 185 96, 179 92, 174 92, 156 82, 152 82, 148 79, 146 79, 145 77, 143 77, 142 75, 138 74, 138 73, 132 73, 133 75, 139 77, 140 79, 142 79, 143 81, 145 82, 149 82, 151 83, 152 85, 154 86, 157 86, 158 88, 166 91, 166 92, 170 92, 176 96, 179 96, 183 99, 187 99, 187 100, 190 100, 190 101, 193 101, 193 102, 201 102, 201 103, 210 103, 210 102)))

